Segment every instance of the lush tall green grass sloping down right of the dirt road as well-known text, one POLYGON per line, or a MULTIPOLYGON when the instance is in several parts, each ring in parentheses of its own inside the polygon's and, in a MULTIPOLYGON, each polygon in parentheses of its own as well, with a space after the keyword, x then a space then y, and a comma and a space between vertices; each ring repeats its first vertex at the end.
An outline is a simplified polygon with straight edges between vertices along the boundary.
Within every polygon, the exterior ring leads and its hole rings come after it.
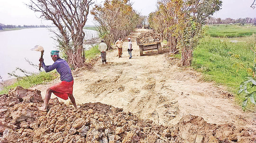
MULTIPOLYGON (((253 52, 250 48, 254 46, 254 42, 250 38, 243 39, 234 43, 228 38, 205 37, 194 50, 192 61, 193 68, 202 72, 205 80, 226 85, 235 93, 238 104, 241 104, 244 98, 243 94, 236 94, 239 85, 249 75, 245 68, 237 68, 233 65, 237 62, 247 67, 253 64, 253 52), (229 52, 238 54, 240 59, 231 58, 232 54, 229 52)), ((254 111, 256 111, 255 106, 254 111)))

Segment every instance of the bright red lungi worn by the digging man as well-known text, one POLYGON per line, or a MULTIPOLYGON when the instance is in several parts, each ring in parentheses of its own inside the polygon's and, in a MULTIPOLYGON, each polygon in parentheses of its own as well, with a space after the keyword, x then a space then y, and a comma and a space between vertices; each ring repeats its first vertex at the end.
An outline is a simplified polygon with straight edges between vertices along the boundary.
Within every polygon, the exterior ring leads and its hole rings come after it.
POLYGON ((57 97, 67 100, 68 94, 73 94, 73 84, 74 84, 74 81, 71 81, 71 82, 61 81, 51 86, 50 89, 53 90, 52 93, 55 94, 57 97))

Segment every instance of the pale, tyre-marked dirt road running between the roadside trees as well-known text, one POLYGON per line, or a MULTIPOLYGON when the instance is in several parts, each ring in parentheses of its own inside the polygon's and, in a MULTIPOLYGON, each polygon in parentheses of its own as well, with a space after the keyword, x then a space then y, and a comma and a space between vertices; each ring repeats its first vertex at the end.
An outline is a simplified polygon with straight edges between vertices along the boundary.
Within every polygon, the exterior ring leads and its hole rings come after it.
MULTIPOLYGON (((255 123, 255 115, 252 118, 235 105, 225 88, 203 82, 201 75, 190 68, 170 64, 157 50, 139 56, 136 37, 145 31, 148 30, 139 29, 130 36, 132 59, 124 40, 123 58, 118 58, 114 49, 107 53, 107 65, 98 60, 91 71, 81 70, 74 75, 73 93, 78 104, 111 104, 163 125, 174 125, 182 116, 191 114, 203 117, 208 123, 233 123, 255 129, 255 124, 249 124, 255 123)), ((41 90, 44 97, 46 87, 53 83, 33 89, 41 90)))

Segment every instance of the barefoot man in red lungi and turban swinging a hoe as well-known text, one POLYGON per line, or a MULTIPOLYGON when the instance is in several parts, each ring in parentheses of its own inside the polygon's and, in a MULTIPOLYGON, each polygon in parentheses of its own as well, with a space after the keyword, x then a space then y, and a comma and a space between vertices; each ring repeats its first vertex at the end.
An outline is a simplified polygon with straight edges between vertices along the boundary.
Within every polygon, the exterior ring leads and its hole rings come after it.
POLYGON ((77 108, 75 98, 73 97, 74 80, 68 63, 65 60, 60 59, 58 50, 52 50, 51 57, 54 63, 50 66, 45 66, 44 59, 40 58, 39 61, 41 62, 45 72, 50 72, 56 68, 57 72, 60 74, 61 82, 51 86, 46 90, 44 105, 38 109, 42 111, 47 110, 48 102, 52 93, 64 100, 67 100, 69 97, 74 107, 77 108))

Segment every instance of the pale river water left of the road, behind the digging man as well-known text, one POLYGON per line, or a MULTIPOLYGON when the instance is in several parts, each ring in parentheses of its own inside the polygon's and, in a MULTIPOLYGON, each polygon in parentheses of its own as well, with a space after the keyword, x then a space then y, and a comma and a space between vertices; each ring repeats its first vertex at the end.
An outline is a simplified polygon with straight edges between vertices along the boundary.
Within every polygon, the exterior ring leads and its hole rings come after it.
MULTIPOLYGON (((57 30, 57 28, 55 28, 57 30)), ((98 36, 93 30, 84 30, 85 39, 91 39, 98 36)), ((15 70, 16 67, 25 69, 29 72, 38 72, 38 69, 31 66, 26 60, 39 64, 40 52, 30 51, 35 45, 44 47, 44 63, 53 64, 50 51, 56 49, 56 42, 52 37, 55 35, 47 28, 31 28, 15 31, 0 32, 0 76, 1 80, 14 78, 8 73, 15 70)), ((16 74, 23 76, 21 72, 16 74)))

